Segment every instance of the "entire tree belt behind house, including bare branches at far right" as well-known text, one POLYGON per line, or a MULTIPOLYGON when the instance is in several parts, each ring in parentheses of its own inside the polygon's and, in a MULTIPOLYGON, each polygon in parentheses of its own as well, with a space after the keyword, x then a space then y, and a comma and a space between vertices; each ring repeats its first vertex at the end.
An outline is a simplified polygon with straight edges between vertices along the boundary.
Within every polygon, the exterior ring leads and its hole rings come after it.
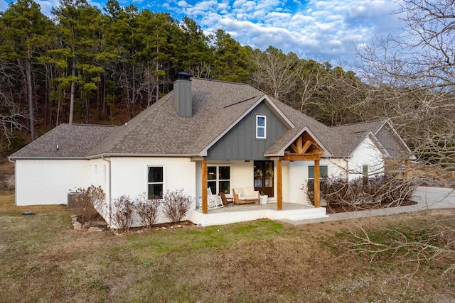
POLYGON ((402 0, 405 32, 358 50, 357 75, 328 62, 242 46, 191 18, 60 0, 0 13, 0 153, 59 123, 119 125, 167 94, 177 72, 243 82, 326 125, 390 119, 419 160, 454 167, 454 7, 402 0))

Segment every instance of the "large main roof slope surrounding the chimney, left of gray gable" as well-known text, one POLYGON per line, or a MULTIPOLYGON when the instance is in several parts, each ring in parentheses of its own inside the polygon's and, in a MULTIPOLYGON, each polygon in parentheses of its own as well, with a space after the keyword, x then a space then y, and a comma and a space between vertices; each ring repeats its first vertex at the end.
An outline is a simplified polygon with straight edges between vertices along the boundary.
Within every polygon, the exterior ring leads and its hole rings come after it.
POLYGON ((264 94, 246 84, 197 78, 191 87, 193 117, 176 114, 170 92, 127 126, 119 126, 91 154, 198 155, 264 94))

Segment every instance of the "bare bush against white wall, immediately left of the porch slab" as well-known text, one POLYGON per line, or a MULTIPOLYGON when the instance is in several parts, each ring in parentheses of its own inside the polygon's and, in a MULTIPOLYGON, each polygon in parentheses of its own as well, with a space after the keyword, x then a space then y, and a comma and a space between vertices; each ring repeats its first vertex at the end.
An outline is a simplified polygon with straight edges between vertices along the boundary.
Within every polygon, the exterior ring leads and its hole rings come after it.
POLYGON ((183 189, 174 192, 166 192, 163 197, 164 214, 171 219, 173 223, 180 222, 183 216, 190 210, 193 198, 183 194, 183 189))

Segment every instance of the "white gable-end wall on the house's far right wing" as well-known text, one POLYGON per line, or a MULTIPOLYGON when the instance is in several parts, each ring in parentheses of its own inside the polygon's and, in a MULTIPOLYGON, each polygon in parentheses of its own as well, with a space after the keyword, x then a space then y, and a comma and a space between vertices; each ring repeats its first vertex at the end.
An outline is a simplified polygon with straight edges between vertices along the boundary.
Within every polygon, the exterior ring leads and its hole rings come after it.
POLYGON ((349 164, 349 181, 363 177, 362 167, 368 165, 368 174, 382 175, 384 173, 384 161, 382 153, 370 138, 365 138, 353 151, 349 164))

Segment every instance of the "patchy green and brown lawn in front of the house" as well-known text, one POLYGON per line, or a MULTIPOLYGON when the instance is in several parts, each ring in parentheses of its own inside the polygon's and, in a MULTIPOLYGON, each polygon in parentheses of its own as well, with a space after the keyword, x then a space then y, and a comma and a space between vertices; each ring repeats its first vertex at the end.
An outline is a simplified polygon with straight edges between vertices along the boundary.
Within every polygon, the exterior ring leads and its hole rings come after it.
MULTIPOLYGON (((64 206, 0 194, 0 302, 454 302, 444 264, 347 249, 350 230, 422 226, 432 211, 288 226, 258 220, 120 236, 74 231, 64 206), (22 216, 33 211, 33 216, 22 216), (422 286, 423 285, 423 286, 422 286), (389 301, 387 301, 389 300, 389 301)), ((453 260, 449 260, 452 262, 453 260)))

